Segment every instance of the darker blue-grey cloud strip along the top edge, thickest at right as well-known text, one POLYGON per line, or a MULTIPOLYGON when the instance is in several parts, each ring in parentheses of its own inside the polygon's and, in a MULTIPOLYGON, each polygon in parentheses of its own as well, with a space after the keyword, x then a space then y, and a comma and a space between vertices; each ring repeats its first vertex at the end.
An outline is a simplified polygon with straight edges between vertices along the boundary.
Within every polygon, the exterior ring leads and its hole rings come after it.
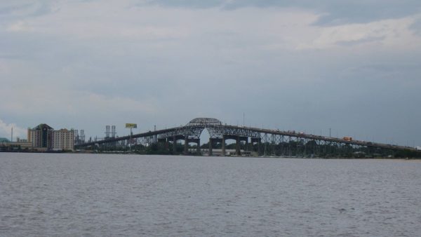
POLYGON ((378 20, 404 18, 420 12, 421 2, 418 0, 151 0, 142 1, 142 4, 157 4, 159 6, 182 8, 223 8, 233 10, 245 7, 258 8, 302 8, 323 15, 316 25, 346 25, 349 23, 366 23, 378 20))

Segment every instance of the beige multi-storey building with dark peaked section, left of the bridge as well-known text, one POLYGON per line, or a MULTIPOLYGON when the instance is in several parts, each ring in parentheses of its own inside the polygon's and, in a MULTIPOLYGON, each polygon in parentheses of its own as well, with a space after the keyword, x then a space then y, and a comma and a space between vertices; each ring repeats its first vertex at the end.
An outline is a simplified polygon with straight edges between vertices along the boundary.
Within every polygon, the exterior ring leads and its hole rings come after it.
POLYGON ((73 151, 74 130, 54 130, 46 123, 41 123, 35 128, 28 128, 28 142, 34 149, 41 151, 73 151))

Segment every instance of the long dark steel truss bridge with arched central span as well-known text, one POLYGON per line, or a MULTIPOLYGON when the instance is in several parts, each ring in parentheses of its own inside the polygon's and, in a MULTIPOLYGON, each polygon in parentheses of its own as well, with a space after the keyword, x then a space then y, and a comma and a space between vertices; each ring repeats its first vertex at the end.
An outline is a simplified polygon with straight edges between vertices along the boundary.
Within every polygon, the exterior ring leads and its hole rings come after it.
POLYGON ((420 152, 413 147, 403 147, 393 144, 382 144, 377 142, 366 142, 359 140, 344 140, 338 137, 323 137, 295 131, 281 131, 263 128, 252 128, 245 126, 230 126, 222 124, 216 118, 194 118, 185 126, 168 128, 163 130, 149 131, 124 137, 112 137, 95 142, 76 144, 76 149, 86 147, 116 146, 128 147, 141 144, 145 147, 154 144, 165 144, 166 147, 173 146, 175 151, 178 141, 184 141, 184 153, 189 152, 189 143, 197 144, 197 153, 200 153, 200 135, 203 130, 209 133, 208 154, 213 155, 213 147, 217 143, 222 144, 222 155, 226 154, 226 141, 234 140, 236 143, 236 155, 241 155, 241 144, 248 150, 257 147, 258 155, 282 155, 292 156, 293 154, 332 154, 332 149, 359 150, 368 153, 376 153, 380 150, 387 151, 411 151, 420 152), (295 144, 295 147, 291 147, 295 144), (256 146, 257 145, 257 146, 256 146))

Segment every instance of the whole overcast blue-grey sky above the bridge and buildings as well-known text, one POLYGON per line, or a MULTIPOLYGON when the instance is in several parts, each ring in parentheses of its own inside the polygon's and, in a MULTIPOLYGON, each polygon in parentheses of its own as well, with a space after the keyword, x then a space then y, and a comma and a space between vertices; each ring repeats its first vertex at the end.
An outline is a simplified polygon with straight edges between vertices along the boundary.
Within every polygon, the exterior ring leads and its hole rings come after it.
POLYGON ((0 1, 0 96, 0 137, 210 117, 421 146, 421 1, 0 1))

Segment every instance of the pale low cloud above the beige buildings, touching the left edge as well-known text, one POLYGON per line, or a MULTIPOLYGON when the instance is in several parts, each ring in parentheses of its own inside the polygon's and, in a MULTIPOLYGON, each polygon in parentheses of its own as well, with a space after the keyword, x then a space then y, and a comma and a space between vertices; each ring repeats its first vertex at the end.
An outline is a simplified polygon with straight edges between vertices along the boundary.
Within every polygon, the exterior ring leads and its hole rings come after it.
MULTIPOLYGON (((68 90, 57 86, 21 87, 18 90, 1 88, 0 94, 9 102, 0 105, 0 110, 20 116, 47 117, 53 111, 54 116, 63 117, 91 114, 91 117, 116 116, 115 114, 156 113, 152 102, 134 100, 116 95, 100 95, 88 91, 68 90), (114 113, 114 114, 112 114, 114 113)), ((51 115, 53 115, 51 114, 51 115)))

